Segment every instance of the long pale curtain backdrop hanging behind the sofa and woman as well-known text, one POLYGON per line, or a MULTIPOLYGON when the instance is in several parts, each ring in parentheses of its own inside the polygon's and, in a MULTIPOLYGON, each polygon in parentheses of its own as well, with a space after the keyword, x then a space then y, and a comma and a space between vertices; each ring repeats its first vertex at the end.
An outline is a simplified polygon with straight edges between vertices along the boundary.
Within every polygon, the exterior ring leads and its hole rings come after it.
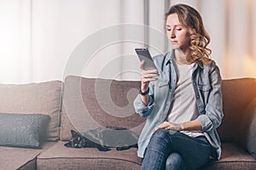
POLYGON ((175 3, 201 12, 224 78, 256 77, 255 0, 0 0, 0 82, 138 80, 134 48, 170 48, 164 14, 175 3))

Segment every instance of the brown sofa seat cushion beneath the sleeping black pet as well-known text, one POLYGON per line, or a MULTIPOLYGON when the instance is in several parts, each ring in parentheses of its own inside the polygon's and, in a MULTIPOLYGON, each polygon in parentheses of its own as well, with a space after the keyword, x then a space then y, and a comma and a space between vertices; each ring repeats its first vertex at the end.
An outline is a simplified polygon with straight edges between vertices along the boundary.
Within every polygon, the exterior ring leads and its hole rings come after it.
POLYGON ((60 141, 38 156, 40 169, 140 169, 142 159, 137 149, 99 151, 96 148, 74 149, 60 141))

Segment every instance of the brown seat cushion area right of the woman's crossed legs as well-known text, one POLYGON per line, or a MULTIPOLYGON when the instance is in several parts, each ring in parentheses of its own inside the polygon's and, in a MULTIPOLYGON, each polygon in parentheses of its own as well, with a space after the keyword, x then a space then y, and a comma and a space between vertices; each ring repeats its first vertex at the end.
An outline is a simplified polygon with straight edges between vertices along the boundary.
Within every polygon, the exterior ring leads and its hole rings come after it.
POLYGON ((256 167, 256 160, 248 152, 240 146, 232 143, 222 144, 222 155, 219 161, 212 160, 207 166, 202 167, 201 170, 215 170, 215 169, 247 169, 254 170, 256 167))

